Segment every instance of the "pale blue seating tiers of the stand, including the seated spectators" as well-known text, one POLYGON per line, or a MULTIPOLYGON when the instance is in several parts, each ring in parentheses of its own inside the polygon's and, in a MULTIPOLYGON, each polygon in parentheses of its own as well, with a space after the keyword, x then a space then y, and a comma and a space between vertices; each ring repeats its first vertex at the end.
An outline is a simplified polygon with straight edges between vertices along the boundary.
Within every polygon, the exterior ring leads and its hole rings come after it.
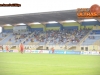
MULTIPOLYGON (((40 48, 42 46, 48 45, 48 46, 69 46, 67 49, 73 46, 79 45, 79 43, 85 38, 86 35, 89 35, 83 40, 81 46, 85 45, 92 45, 97 40, 100 39, 100 30, 92 30, 91 28, 82 28, 82 29, 74 29, 75 26, 72 28, 63 27, 58 24, 59 28, 56 28, 56 24, 54 25, 54 29, 52 29, 52 26, 49 26, 51 24, 47 24, 47 30, 44 29, 38 30, 30 29, 25 32, 9 32, 8 34, 4 31, 4 33, 0 34, 0 45, 19 45, 20 43, 23 43, 24 45, 38 45, 37 48, 40 48), (51 27, 51 29, 49 28, 51 27), (67 29, 65 29, 67 28, 67 29)), ((59 49, 59 48, 57 48, 59 49)))

